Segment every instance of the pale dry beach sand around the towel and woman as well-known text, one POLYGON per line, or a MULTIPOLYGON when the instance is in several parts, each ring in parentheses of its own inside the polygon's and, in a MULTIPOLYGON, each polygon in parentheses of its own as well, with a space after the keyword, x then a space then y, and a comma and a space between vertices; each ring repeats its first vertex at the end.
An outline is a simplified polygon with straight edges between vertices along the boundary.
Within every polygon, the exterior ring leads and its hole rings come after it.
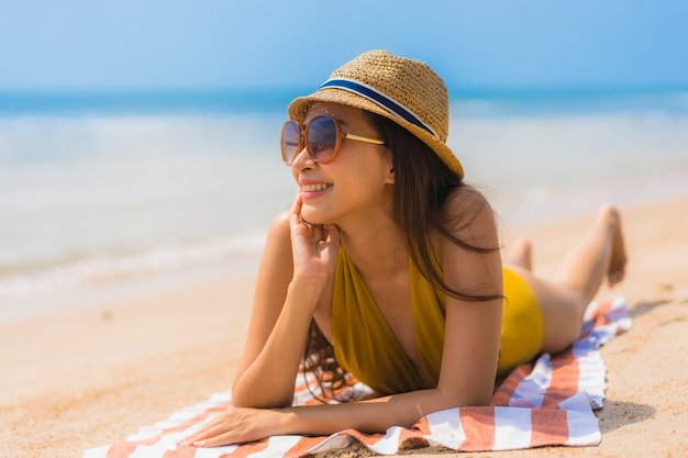
MULTIPOLYGON (((688 197, 621 210, 626 279, 598 298, 625 297, 634 327, 602 348, 602 443, 510 457, 688 456, 688 197)), ((506 227, 504 243, 529 236, 546 276, 592 217, 506 227)), ((229 389, 253 287, 247 273, 0 323, 0 456, 80 457, 229 389)))

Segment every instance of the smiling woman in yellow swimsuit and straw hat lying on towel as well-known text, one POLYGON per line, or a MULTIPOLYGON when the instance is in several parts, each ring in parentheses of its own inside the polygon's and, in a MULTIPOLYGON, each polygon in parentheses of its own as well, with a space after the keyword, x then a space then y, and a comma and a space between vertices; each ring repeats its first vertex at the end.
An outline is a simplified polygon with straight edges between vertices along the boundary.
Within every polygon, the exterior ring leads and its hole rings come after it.
POLYGON ((566 349, 604 277, 623 278, 609 205, 554 279, 531 273, 526 242, 502 266, 492 210, 445 143, 446 88, 425 64, 365 53, 289 116, 282 158, 299 192, 269 230, 233 406, 185 444, 379 433, 486 405, 496 377, 566 349), (291 406, 302 365, 380 395, 291 406))

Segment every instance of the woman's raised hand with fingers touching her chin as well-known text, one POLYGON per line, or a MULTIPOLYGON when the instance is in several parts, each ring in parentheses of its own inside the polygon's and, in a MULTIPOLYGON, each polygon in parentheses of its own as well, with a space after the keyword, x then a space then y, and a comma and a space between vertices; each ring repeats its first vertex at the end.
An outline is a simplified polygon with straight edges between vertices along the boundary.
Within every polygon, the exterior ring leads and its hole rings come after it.
POLYGON ((340 228, 334 224, 311 224, 301 216, 301 194, 291 205, 289 225, 293 256, 293 278, 329 278, 340 250, 340 228))

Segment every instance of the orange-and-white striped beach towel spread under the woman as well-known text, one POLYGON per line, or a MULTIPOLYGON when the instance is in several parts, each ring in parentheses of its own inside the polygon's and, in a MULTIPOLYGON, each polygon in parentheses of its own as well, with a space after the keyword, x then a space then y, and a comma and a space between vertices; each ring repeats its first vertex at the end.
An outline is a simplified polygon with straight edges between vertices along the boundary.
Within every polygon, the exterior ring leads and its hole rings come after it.
MULTIPOLYGON (((223 392, 143 427, 126 440, 87 450, 84 458, 286 458, 336 450, 355 443, 382 455, 422 447, 489 451, 593 446, 601 440, 593 410, 602 407, 607 372, 599 348, 631 325, 622 298, 592 302, 578 342, 561 355, 543 355, 533 364, 517 368, 496 387, 491 405, 436 412, 411 428, 393 426, 385 434, 347 429, 328 437, 275 436, 214 448, 177 446, 177 442, 228 407, 231 393, 223 392)), ((296 404, 314 401, 308 389, 310 386, 315 390, 311 383, 307 378, 298 380, 296 404)), ((369 391, 356 384, 344 394, 354 400, 369 391)))

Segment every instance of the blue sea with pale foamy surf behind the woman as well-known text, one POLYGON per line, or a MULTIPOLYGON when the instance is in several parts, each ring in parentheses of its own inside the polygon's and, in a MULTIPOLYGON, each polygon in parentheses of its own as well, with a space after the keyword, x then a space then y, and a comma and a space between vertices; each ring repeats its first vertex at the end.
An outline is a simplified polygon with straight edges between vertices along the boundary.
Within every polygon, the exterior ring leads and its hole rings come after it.
MULTIPOLYGON (((254 271, 307 92, 0 92, 0 321, 254 271)), ((450 93, 503 227, 688 196, 688 90, 450 93)))

